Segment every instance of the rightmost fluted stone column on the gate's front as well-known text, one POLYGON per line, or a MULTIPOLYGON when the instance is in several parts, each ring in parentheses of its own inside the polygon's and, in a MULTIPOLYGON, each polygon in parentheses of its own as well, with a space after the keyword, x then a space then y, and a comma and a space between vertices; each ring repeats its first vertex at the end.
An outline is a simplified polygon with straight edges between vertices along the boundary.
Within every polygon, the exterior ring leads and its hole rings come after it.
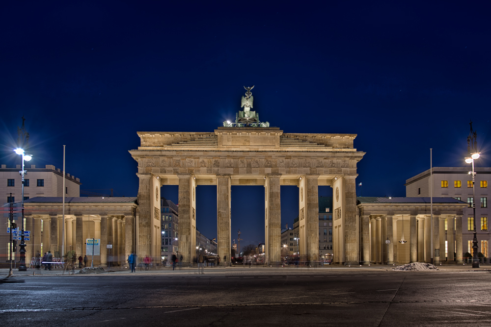
MULTIPOLYGON (((358 264, 358 226, 356 222, 356 178, 344 176, 344 243, 346 264, 358 264)), ((316 209, 317 210, 317 209, 316 209)), ((317 215, 317 214, 316 214, 317 215)), ((319 249, 319 247, 317 247, 319 249)))

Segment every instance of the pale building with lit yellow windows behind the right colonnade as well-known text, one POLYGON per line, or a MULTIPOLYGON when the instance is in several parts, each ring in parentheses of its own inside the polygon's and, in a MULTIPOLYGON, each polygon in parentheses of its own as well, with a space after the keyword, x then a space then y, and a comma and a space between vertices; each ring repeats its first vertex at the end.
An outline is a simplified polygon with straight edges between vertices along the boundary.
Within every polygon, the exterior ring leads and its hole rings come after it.
MULTIPOLYGON (((490 167, 476 167, 475 199, 472 194, 471 167, 434 167, 433 168, 433 197, 455 198, 467 202, 462 217, 462 246, 464 254, 472 254, 472 238, 474 230, 472 203, 476 202, 476 230, 478 251, 489 257, 490 229, 488 219, 491 211, 488 207, 490 191, 488 181, 491 179, 490 167)), ((407 197, 430 197, 430 170, 410 177, 406 180, 407 197)), ((444 223, 445 257, 448 257, 448 226, 444 223)), ((441 251, 441 250, 440 250, 441 251)))

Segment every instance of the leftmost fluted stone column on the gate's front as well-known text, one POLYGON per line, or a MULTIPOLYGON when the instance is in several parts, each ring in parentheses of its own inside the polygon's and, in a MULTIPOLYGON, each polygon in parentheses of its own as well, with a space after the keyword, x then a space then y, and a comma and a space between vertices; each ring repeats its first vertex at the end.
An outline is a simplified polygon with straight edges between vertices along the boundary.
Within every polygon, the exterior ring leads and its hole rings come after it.
MULTIPOLYGON (((145 255, 151 256, 152 244, 152 226, 151 211, 152 203, 150 199, 150 186, 152 185, 152 176, 150 174, 136 174, 139 178, 138 186, 138 253, 143 259, 145 255)), ((181 199, 179 199, 181 200, 181 199)), ((181 203, 179 203, 181 206, 181 203)), ((179 221, 181 221, 181 208, 179 208, 179 221)), ((181 224, 179 224, 180 226, 181 224)), ((112 223, 111 223, 112 226, 112 223)), ((109 227, 109 225, 108 225, 109 227)), ((108 241, 109 242, 109 241, 108 241)))

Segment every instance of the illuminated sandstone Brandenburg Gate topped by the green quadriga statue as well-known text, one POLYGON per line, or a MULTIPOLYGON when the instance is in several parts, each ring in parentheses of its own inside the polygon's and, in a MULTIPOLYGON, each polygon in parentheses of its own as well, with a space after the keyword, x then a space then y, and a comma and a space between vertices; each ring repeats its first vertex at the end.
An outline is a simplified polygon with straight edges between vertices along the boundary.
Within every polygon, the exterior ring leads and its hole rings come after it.
POLYGON ((356 134, 284 133, 261 123, 250 110, 250 88, 244 111, 235 123, 213 132, 137 132, 140 146, 130 153, 138 162, 137 255, 160 257, 160 188, 179 185, 179 252, 191 262, 196 247, 196 187, 217 185, 217 243, 221 262, 231 258, 232 185, 263 185, 265 190, 266 262, 280 262, 281 185, 299 187, 300 256, 319 257, 318 186, 333 188, 334 262, 358 263, 356 213, 356 134))

